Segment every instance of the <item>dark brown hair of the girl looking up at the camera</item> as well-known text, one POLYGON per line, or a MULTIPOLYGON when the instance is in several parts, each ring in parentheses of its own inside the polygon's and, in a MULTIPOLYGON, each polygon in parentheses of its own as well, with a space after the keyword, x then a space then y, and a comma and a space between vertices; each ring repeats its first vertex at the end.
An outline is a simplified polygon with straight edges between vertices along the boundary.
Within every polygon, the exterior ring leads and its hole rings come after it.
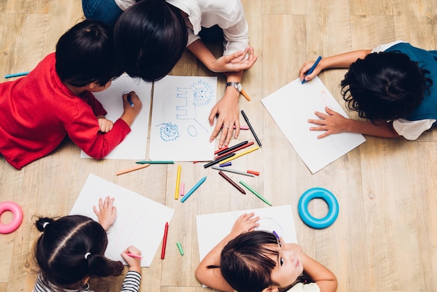
MULTIPOLYGON (((266 231, 242 233, 230 240, 221 251, 220 270, 223 278, 238 292, 257 292, 272 286, 272 270, 278 251, 267 244, 278 244, 266 231)), ((208 268, 218 268, 214 265, 208 268)))

